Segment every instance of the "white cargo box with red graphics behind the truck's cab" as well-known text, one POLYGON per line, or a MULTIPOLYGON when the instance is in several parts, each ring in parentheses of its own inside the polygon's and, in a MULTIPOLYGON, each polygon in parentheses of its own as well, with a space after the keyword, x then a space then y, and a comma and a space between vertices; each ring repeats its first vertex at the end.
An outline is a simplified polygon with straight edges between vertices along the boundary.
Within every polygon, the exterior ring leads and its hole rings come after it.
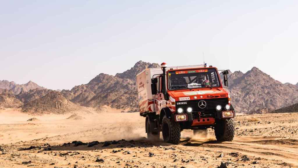
MULTIPOLYGON (((188 69, 188 68, 204 68, 204 65, 187 65, 167 67, 169 69, 188 69)), ((154 97, 151 93, 151 79, 153 75, 162 74, 161 68, 147 68, 136 75, 136 85, 138 88, 139 108, 140 113, 155 112, 154 97)))

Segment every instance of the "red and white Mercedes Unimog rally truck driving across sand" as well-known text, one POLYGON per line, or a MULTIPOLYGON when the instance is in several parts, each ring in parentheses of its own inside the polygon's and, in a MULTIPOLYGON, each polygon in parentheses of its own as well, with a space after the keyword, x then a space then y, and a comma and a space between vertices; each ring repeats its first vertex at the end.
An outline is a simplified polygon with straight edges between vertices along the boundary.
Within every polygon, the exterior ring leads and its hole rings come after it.
MULTIPOLYGON (((228 73, 222 72, 225 86, 228 73)), ((137 74, 136 81, 149 140, 159 139, 162 132, 164 142, 178 144, 183 129, 207 136, 208 128, 214 129, 218 141, 233 140, 235 110, 217 68, 162 63, 161 68, 137 74)))

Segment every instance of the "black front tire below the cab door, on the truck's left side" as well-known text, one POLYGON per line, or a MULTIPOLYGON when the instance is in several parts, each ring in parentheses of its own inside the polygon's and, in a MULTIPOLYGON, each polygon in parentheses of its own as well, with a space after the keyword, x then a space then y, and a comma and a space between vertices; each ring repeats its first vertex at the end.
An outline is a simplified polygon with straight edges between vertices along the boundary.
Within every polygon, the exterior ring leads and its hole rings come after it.
POLYGON ((164 116, 162 119, 162 137, 164 142, 178 144, 181 137, 180 124, 164 116))

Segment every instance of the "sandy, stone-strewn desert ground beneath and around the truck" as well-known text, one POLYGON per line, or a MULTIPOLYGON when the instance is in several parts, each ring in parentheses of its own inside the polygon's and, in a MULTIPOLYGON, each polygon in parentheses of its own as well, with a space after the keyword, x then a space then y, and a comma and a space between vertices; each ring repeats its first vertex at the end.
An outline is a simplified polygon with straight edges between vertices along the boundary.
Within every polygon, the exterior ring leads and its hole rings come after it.
POLYGON ((232 142, 184 130, 179 145, 147 141, 139 113, 77 114, 0 109, 0 168, 298 167, 298 113, 238 115, 232 142))

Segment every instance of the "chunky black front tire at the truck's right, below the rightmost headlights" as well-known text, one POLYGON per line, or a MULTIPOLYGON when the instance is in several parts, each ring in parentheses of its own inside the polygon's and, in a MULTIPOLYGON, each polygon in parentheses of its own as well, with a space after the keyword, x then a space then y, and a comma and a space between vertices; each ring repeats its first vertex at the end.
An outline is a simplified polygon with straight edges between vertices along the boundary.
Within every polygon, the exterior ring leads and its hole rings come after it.
POLYGON ((215 137, 217 141, 232 141, 235 134, 234 120, 218 120, 214 128, 215 137))

